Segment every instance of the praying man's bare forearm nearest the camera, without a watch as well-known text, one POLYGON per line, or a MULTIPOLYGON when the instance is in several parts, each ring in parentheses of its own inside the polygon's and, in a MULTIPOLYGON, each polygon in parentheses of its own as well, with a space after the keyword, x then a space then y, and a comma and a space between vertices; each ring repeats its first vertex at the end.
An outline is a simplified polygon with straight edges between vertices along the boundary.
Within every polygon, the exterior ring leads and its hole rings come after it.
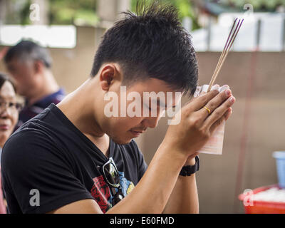
POLYGON ((167 150, 160 146, 135 189, 108 213, 162 213, 185 163, 167 150))

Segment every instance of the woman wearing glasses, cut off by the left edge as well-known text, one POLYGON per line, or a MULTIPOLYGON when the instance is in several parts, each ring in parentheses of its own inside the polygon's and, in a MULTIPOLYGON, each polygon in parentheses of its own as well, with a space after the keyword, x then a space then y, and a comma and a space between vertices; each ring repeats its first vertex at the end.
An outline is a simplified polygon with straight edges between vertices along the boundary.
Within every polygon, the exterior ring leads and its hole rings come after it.
MULTIPOLYGON (((13 133, 20 109, 21 105, 16 100, 14 83, 4 73, 0 73, 0 161, 2 147, 11 133, 13 133)), ((3 199, 0 175, 0 214, 4 213, 6 213, 6 206, 3 199)))

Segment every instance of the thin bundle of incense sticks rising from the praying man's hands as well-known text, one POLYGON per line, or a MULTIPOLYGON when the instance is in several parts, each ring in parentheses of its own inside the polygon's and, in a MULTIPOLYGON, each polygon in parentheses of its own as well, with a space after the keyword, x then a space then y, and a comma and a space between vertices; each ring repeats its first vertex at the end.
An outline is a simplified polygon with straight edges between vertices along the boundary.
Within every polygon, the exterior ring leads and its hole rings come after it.
POLYGON ((209 92, 209 90, 211 90, 211 88, 212 88, 212 86, 214 84, 214 81, 216 80, 216 78, 217 78, 217 76, 219 74, 219 71, 221 70, 222 65, 224 64, 224 61, 227 58, 229 50, 232 48, 232 44, 234 43, 234 40, 237 37, 237 33, 239 33, 239 28, 242 26, 242 22, 244 21, 244 19, 242 19, 241 23, 240 23, 240 19, 239 19, 239 22, 237 23, 237 26, 234 28, 234 25, 236 24, 236 21, 237 21, 237 19, 234 20, 234 24, 232 25, 232 29, 229 32, 229 36, 227 38, 227 42, 224 45, 224 50, 222 51, 221 56, 219 56, 219 61, 218 61, 217 66, 216 66, 216 68, 214 70, 214 74, 213 74, 213 76, 211 78, 211 81, 209 82, 209 88, 208 88, 207 92, 209 92), (232 33, 233 29, 234 29, 234 32, 232 33))

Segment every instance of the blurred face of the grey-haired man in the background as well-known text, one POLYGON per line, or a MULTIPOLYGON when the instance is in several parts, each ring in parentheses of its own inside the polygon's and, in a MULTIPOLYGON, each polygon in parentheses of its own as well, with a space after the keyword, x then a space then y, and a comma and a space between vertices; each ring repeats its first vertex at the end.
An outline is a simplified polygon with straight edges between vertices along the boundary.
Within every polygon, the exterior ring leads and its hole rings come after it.
POLYGON ((35 87, 36 72, 33 61, 20 61, 14 58, 6 64, 6 68, 16 81, 18 93, 28 97, 31 88, 35 87))

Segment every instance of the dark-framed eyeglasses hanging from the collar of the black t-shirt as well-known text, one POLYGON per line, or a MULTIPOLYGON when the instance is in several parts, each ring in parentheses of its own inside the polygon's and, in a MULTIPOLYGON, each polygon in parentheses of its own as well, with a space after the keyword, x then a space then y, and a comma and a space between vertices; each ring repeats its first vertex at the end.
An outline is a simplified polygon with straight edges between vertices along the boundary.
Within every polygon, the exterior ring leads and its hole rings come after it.
POLYGON ((124 198, 124 195, 122 187, 120 186, 119 172, 112 157, 103 165, 102 170, 105 182, 109 185, 113 194, 114 206, 124 198), (115 191, 115 189, 117 189, 117 191, 115 191))

